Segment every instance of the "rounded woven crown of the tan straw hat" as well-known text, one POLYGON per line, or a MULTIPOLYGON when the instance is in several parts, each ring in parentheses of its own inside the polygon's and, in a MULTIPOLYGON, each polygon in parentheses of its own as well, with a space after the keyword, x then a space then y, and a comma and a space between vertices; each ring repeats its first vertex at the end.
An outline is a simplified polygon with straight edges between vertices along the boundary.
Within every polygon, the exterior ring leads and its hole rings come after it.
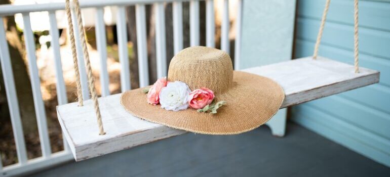
POLYGON ((185 82, 191 90, 206 87, 214 93, 223 93, 232 83, 233 65, 224 51, 189 47, 172 58, 168 80, 185 82))

